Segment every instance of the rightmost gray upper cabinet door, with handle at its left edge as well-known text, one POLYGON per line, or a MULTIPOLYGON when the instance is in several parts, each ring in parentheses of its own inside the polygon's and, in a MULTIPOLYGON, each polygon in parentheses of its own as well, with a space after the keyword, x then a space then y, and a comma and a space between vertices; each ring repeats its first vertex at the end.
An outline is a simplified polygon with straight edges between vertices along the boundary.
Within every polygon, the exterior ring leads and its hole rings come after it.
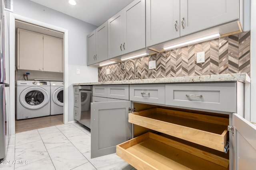
POLYGON ((180 0, 180 36, 238 18, 239 0, 180 0))

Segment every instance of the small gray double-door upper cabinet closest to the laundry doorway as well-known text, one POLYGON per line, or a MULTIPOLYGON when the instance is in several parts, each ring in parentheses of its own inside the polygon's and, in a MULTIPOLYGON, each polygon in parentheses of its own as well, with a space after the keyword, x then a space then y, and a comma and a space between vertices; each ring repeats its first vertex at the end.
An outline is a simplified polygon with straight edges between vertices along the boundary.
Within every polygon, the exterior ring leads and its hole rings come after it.
POLYGON ((87 65, 99 63, 108 56, 108 28, 107 22, 87 35, 87 65))

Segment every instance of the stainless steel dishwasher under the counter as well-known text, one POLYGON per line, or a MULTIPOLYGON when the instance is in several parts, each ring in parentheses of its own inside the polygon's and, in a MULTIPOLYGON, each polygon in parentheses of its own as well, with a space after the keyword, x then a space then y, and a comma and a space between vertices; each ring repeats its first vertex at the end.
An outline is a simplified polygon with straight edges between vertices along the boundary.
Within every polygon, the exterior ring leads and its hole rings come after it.
POLYGON ((74 94, 74 119, 91 129, 92 86, 78 86, 74 94), (78 90, 78 94, 76 94, 78 90))

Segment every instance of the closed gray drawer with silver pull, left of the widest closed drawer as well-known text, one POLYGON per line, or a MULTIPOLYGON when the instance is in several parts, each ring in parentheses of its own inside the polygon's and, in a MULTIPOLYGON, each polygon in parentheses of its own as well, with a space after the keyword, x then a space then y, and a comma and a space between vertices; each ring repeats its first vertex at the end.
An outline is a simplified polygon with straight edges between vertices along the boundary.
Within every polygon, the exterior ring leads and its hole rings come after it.
POLYGON ((154 104, 164 104, 164 84, 130 85, 130 100, 154 104))

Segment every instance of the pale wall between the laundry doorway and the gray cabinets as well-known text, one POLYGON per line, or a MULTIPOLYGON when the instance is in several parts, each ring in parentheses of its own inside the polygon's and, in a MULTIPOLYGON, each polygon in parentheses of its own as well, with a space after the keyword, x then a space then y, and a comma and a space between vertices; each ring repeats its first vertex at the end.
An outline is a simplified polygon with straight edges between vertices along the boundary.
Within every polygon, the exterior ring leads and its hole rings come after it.
POLYGON ((13 0, 13 13, 68 30, 68 82, 65 83, 68 83, 68 121, 73 121, 72 84, 98 81, 98 69, 86 66, 86 36, 96 26, 29 0, 13 0), (76 68, 80 69, 79 75, 76 68))

